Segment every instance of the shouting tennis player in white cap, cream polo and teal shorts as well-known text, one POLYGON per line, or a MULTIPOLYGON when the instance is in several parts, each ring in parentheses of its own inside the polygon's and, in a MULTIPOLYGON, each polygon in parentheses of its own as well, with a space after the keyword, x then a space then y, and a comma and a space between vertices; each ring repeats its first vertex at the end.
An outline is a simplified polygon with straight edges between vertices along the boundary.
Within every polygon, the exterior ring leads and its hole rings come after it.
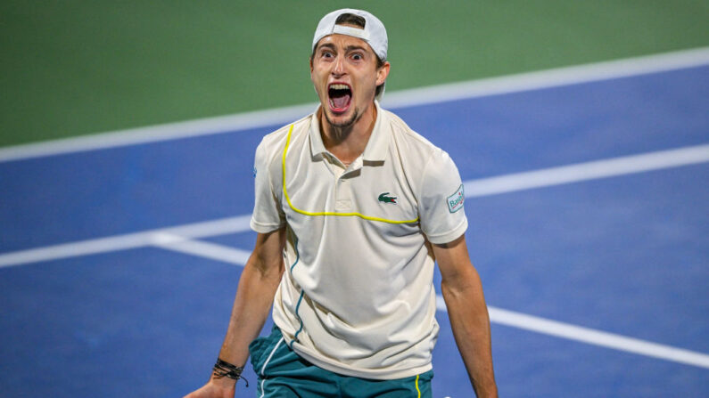
POLYGON ((369 12, 317 25, 320 105, 256 150, 255 248, 210 381, 188 397, 233 397, 250 355, 259 397, 431 397, 436 261, 474 390, 497 396, 463 184, 446 152, 380 107, 387 45, 369 12))

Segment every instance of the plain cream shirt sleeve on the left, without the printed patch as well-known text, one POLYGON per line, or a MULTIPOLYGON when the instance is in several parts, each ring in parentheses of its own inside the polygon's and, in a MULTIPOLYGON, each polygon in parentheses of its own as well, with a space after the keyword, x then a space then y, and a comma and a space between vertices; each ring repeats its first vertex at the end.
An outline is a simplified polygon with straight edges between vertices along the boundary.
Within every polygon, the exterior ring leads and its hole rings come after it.
POLYGON ((254 202, 251 214, 251 230, 260 233, 276 231, 285 223, 283 210, 271 178, 270 157, 265 142, 256 148, 254 157, 254 202))

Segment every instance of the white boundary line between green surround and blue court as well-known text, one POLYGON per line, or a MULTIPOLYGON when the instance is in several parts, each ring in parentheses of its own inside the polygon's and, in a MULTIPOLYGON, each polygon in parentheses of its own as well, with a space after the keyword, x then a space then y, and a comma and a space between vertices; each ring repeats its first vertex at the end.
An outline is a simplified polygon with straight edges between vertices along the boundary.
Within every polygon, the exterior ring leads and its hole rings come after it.
MULTIPOLYGON (((383 99, 383 106, 391 109, 406 108, 466 98, 647 75, 704 65, 709 65, 709 47, 387 92, 383 99)), ((229 133, 256 127, 280 126, 309 114, 315 110, 316 106, 317 104, 313 102, 280 109, 244 112, 217 118, 200 118, 185 122, 15 145, 0 148, 0 162, 161 142, 205 134, 229 133)))

